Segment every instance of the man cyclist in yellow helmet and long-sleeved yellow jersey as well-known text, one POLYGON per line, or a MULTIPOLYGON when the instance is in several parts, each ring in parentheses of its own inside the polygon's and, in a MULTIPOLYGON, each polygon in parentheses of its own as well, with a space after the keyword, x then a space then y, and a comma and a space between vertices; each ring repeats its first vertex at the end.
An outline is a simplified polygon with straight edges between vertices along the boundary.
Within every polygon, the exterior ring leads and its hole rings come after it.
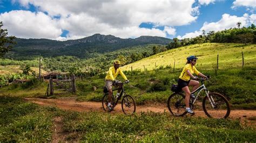
MULTIPOLYGON (((112 85, 116 88, 121 88, 122 84, 120 84, 118 81, 116 81, 116 77, 118 74, 120 74, 124 80, 126 80, 126 82, 129 82, 129 80, 127 80, 127 77, 124 75, 123 71, 119 68, 121 62, 118 60, 114 60, 114 66, 109 68, 109 71, 107 71, 107 75, 105 77, 105 87, 107 88, 107 90, 109 90, 109 96, 108 96, 108 104, 107 104, 107 109, 108 112, 112 111, 113 108, 111 106, 111 102, 112 102, 112 85)), ((117 97, 120 95, 120 91, 121 89, 118 89, 117 91, 117 97)))

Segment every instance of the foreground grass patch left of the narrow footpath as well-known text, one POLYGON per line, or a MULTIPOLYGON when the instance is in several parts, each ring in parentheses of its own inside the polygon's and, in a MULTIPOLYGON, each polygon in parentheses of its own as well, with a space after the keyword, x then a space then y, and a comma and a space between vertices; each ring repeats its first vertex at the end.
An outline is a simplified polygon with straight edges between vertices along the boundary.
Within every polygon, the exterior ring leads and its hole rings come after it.
POLYGON ((0 142, 48 142, 52 113, 19 97, 0 96, 0 142))

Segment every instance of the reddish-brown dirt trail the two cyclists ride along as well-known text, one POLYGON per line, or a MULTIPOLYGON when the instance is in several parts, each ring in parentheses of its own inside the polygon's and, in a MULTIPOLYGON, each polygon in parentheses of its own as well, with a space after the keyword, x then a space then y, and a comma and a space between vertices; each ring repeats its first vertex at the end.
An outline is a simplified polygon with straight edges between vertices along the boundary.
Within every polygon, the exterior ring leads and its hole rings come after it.
MULTIPOLYGON (((73 110, 73 111, 98 111, 104 112, 102 108, 102 103, 100 102, 77 102, 76 98, 58 98, 58 99, 42 99, 42 98, 25 98, 25 100, 39 104, 39 105, 51 105, 56 106, 64 110, 73 110)), ((147 105, 137 105, 136 112, 169 112, 166 104, 147 104, 147 105)), ((206 117, 204 111, 194 110, 196 112, 196 117, 206 117)), ((114 111, 110 113, 122 113, 121 105, 118 104, 114 111)), ((231 110, 230 116, 231 119, 240 119, 241 121, 248 120, 252 117, 256 117, 256 110, 231 110)), ((255 120, 250 120, 253 124, 255 120)))

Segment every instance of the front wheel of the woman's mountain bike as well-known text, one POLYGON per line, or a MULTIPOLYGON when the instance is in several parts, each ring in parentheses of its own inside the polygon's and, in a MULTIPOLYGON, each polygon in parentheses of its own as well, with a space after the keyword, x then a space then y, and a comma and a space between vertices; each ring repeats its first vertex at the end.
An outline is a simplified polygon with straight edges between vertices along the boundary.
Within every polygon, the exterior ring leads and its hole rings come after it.
POLYGON ((227 118, 230 115, 230 104, 227 99, 215 92, 209 93, 209 98, 205 96, 203 99, 203 109, 210 118, 227 118))

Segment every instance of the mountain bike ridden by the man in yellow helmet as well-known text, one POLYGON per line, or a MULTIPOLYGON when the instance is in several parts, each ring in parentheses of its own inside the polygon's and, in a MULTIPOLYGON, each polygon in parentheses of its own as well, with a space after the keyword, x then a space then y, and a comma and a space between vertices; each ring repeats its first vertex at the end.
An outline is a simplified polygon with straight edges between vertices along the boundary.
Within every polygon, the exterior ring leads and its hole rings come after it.
MULTIPOLYGON (((122 102, 121 102, 121 105, 122 105, 122 110, 124 112, 125 115, 130 115, 132 113, 134 113, 136 111, 136 104, 135 104, 135 101, 133 99, 133 97, 131 95, 127 95, 126 92, 124 91, 124 84, 125 83, 128 83, 128 82, 119 82, 119 84, 121 84, 121 88, 116 88, 116 89, 113 89, 114 90, 118 90, 118 89, 122 89, 121 92, 120 92, 120 95, 116 98, 112 95, 112 108, 114 109, 114 107, 118 104, 118 101, 122 98, 123 96, 123 99, 122 99, 122 102)), ((109 96, 109 92, 105 92, 104 93, 104 96, 102 98, 102 106, 103 106, 103 109, 105 111, 107 111, 107 104, 108 104, 108 96, 109 96)))

